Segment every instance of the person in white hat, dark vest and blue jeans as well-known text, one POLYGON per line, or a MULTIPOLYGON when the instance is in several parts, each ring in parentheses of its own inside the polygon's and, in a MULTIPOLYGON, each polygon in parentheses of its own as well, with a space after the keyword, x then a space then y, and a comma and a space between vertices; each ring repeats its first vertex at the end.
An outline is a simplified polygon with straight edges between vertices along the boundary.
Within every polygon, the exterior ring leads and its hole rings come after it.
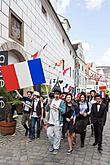
POLYGON ((37 91, 33 93, 33 105, 31 110, 31 139, 35 139, 35 125, 37 122, 37 138, 40 138, 41 120, 43 119, 43 103, 40 101, 40 94, 37 91))

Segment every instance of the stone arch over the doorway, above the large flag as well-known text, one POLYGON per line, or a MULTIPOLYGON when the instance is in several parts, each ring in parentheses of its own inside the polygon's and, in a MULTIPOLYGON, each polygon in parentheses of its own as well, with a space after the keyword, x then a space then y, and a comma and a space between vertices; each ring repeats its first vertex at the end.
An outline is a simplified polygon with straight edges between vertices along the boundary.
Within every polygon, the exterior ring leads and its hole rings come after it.
POLYGON ((20 62, 28 60, 28 56, 26 55, 24 49, 16 42, 5 42, 0 46, 0 50, 15 53, 20 62))

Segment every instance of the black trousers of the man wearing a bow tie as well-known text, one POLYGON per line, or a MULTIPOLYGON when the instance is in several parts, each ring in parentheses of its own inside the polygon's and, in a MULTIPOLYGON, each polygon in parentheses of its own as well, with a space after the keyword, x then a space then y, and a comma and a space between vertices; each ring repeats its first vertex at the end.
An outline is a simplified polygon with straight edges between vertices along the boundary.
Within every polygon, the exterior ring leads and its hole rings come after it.
POLYGON ((98 143, 99 146, 101 146, 103 126, 98 122, 94 123, 93 126, 94 126, 95 142, 98 143))

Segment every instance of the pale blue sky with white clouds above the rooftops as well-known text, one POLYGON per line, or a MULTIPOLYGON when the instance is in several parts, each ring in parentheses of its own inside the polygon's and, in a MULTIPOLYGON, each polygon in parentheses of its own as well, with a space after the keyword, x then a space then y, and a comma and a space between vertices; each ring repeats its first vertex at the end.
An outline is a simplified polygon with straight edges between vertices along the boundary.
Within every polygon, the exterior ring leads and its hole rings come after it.
POLYGON ((110 66, 110 0, 58 0, 72 43, 82 42, 86 62, 110 66))

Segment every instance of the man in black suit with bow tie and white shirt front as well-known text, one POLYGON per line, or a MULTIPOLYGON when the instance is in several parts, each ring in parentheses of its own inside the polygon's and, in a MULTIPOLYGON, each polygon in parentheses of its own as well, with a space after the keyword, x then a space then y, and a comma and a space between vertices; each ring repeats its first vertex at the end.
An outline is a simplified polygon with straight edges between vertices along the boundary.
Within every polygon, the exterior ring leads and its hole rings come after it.
POLYGON ((96 103, 91 108, 91 120, 94 126, 95 142, 93 146, 98 144, 98 151, 102 151, 102 133, 103 127, 106 122, 107 109, 106 105, 102 102, 102 98, 99 94, 95 96, 96 103))

